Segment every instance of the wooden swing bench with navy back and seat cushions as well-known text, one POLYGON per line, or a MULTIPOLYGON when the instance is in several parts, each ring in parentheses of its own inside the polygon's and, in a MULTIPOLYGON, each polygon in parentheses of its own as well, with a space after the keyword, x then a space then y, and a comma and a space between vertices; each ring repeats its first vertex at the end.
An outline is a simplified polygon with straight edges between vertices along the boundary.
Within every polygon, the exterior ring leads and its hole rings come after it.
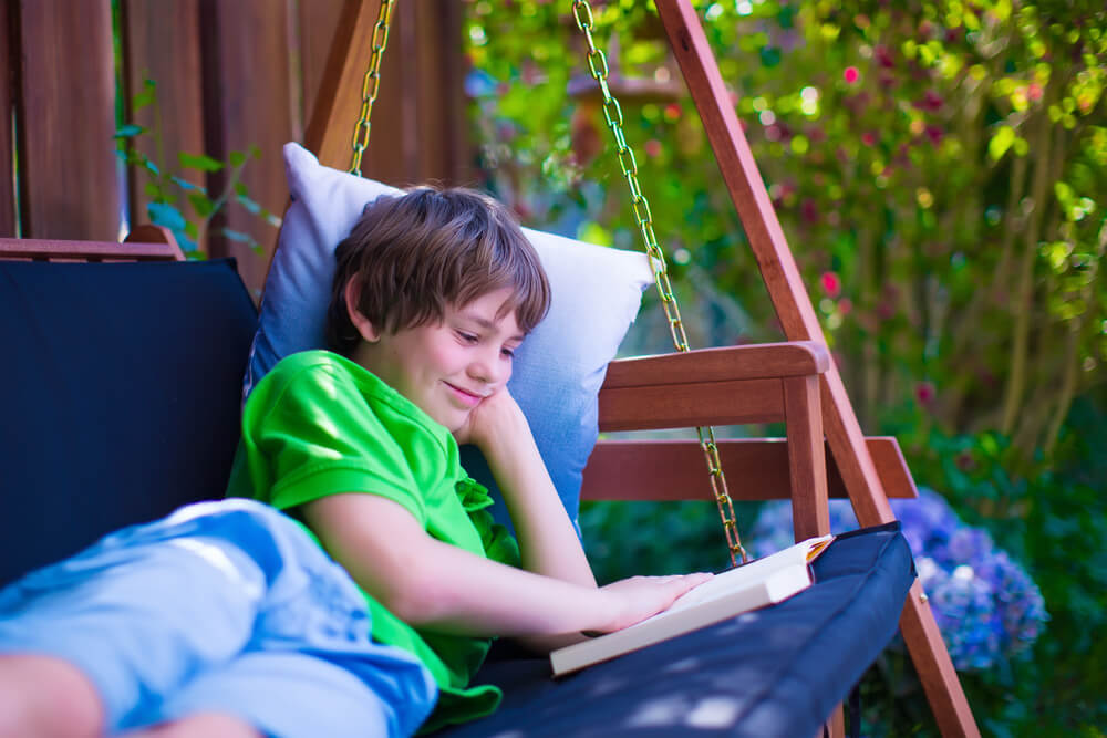
MULTIPOLYGON (((220 496, 257 315, 232 262, 183 261, 173 243, 2 239, 0 259, 0 412, 19 418, 3 432, 2 583, 110 530, 220 496)), ((826 520, 818 381, 828 365, 810 342, 617 361, 601 427, 784 420, 787 440, 722 443, 723 457, 751 498, 790 490, 806 536, 826 520)), ((893 440, 872 444, 896 451, 893 440)), ((703 499, 702 474, 672 471, 689 466, 685 454, 702 469, 695 453, 601 441, 586 493, 703 499)), ((911 493, 909 478, 896 484, 911 493)), ((786 603, 561 680, 546 659, 492 661, 478 678, 505 688, 504 706, 444 732, 815 735, 894 633, 913 570, 902 536, 877 531, 836 543, 817 574, 786 603)))

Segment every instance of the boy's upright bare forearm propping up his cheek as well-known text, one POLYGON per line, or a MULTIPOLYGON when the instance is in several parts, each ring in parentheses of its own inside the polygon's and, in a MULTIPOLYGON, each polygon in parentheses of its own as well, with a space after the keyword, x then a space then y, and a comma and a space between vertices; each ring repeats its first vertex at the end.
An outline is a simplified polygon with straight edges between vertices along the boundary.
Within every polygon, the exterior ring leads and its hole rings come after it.
POLYGON ((467 435, 488 460, 511 516, 523 568, 583 586, 596 578, 518 404, 501 388, 473 413, 467 435))

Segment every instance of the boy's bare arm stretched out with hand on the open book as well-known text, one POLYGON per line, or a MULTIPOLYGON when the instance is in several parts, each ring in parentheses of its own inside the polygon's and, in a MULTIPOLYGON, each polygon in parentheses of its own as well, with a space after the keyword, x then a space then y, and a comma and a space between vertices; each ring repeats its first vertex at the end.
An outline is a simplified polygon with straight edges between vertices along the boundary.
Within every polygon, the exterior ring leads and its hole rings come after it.
POLYGON ((301 508, 354 581, 412 626, 538 645, 613 631, 668 607, 705 575, 634 578, 597 589, 489 561, 430 537, 403 506, 368 493, 301 508), (550 636, 558 638, 528 638, 550 636))

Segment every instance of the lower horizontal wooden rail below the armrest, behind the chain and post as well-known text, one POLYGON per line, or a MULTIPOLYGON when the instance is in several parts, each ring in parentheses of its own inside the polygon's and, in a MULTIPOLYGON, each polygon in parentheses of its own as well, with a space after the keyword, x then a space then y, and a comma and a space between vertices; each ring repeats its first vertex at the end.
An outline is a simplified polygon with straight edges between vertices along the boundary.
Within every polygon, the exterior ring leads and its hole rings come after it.
MULTIPOLYGON (((892 437, 867 438, 884 489, 893 498, 919 496, 899 444, 892 437)), ((788 449, 784 438, 721 438, 718 455, 735 500, 789 498, 788 449)), ((827 493, 847 497, 841 476, 825 450, 827 493)), ((584 500, 676 501, 710 499, 703 451, 693 439, 601 439, 584 467, 584 500)))

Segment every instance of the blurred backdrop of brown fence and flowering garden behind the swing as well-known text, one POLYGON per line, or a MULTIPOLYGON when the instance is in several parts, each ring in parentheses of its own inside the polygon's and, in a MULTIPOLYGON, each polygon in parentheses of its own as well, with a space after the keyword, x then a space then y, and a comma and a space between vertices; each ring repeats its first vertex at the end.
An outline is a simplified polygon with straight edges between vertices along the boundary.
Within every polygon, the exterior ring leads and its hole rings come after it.
MULTIPOLYGON (((899 438, 922 488, 896 511, 981 728, 1104 735, 1107 11, 693 4, 861 425, 899 438)), ((778 340, 652 7, 591 7, 690 342, 778 340)), ((0 232, 115 240, 153 220, 194 258, 237 257, 259 294, 280 146, 303 138, 341 9, 7 0, 0 232)), ((527 226, 640 248, 570 3, 400 2, 382 73, 366 176, 483 187, 527 226)), ((623 352, 669 341, 648 294, 623 352)), ((848 505, 832 518, 852 524, 848 505)), ((613 579, 717 569, 717 520, 593 503, 581 522, 613 579)), ((738 522, 756 553, 790 536, 775 506, 738 522)), ((866 735, 937 734, 897 644, 862 698, 866 735)))

